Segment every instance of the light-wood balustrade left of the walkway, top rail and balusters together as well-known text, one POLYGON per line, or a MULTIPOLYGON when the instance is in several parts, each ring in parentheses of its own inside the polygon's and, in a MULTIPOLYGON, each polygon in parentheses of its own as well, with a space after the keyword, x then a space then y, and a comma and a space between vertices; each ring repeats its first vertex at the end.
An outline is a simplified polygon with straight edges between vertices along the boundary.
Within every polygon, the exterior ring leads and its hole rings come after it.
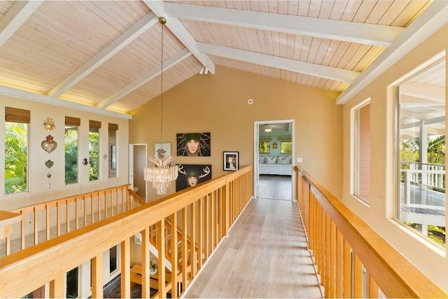
MULTIPOLYGON (((36 288, 40 288, 46 283, 50 284, 50 298, 65 297, 65 274, 74 267, 92 260, 92 298, 102 296, 102 277, 103 277, 103 253, 111 247, 120 244, 122 257, 120 263, 122 298, 130 298, 130 239, 137 232, 142 232, 142 254, 148 253, 148 230, 151 225, 159 223, 159 230, 163 231, 165 226, 165 218, 186 213, 186 207, 192 204, 203 204, 204 197, 211 195, 211 207, 217 207, 217 198, 219 201, 219 210, 223 218, 219 218, 219 228, 216 228, 216 235, 211 246, 216 246, 228 232, 229 224, 232 224, 230 214, 237 215, 241 213, 247 202, 251 199, 252 183, 253 183, 253 167, 241 167, 241 169, 233 172, 229 176, 220 176, 204 183, 200 183, 193 188, 182 190, 173 195, 167 195, 155 202, 136 207, 132 210, 124 211, 121 214, 104 221, 99 221, 78 230, 73 230, 50 239, 41 244, 37 244, 30 248, 24 249, 17 253, 0 259, 0 298, 20 298, 36 288), (250 185, 239 188, 238 193, 230 193, 228 188, 230 178, 235 178, 235 186, 237 184, 250 185), (231 211, 232 210, 232 211, 231 211), (73 250, 76 249, 76 250, 73 250), (18 279, 20 277, 20 279, 18 279)), ((215 209, 216 210, 216 209, 215 209)), ((187 221, 187 217, 183 217, 182 221, 187 221)), ((214 220, 218 218, 214 217, 214 220)), ((213 225, 216 226, 214 223, 213 225)), ((174 224, 174 226, 176 226, 174 224)), ((214 228, 215 229, 215 228, 214 228)), ((160 234, 162 238, 164 234, 160 234)), ((185 235, 183 235, 185 236, 185 235)), ((195 236, 190 236, 192 243, 195 244, 195 236)), ((184 238, 184 237, 183 237, 184 238)), ((198 242, 202 242, 198 238, 198 242)), ((165 244, 160 242, 160 244, 165 244)), ((163 247, 163 245, 160 245, 163 247)), ((200 246, 201 248, 201 246, 200 246)), ((158 249, 164 254, 163 248, 158 249)), ((183 249, 185 252, 186 249, 183 249)), ((193 255, 194 256, 194 255, 193 255)), ((142 256, 146 263, 142 265, 142 295, 147 296, 149 293, 149 273, 148 273, 148 257, 142 256)), ((164 258, 158 259, 158 268, 165 269, 164 258)), ((186 259, 183 260, 186 263, 186 259)), ((200 263, 202 265, 202 263, 200 263)), ((190 262, 189 272, 184 271, 183 291, 186 290, 188 284, 194 279, 198 271, 195 258, 190 262)), ((174 265, 175 267, 175 265, 174 265)), ((187 267, 183 267, 185 270, 187 267)), ((158 272, 159 290, 158 296, 165 297, 167 286, 165 283, 165 272, 158 272)), ((176 275, 174 275, 176 277, 176 275)), ((173 278, 174 279, 174 278, 173 278)), ((173 282, 171 288, 177 288, 173 282)), ((178 290, 179 291, 179 290, 178 290)), ((176 289, 174 289, 176 295, 176 289)))

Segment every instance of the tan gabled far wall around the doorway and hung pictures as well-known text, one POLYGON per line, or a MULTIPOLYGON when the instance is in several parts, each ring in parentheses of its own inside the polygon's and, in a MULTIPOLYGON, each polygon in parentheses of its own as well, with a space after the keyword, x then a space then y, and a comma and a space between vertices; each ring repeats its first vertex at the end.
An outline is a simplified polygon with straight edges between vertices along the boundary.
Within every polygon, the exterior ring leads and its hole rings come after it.
MULTIPOLYGON (((223 174, 223 151, 239 151, 241 166, 253 163, 255 121, 294 119, 295 155, 340 197, 342 106, 335 105, 336 97, 335 92, 218 66, 216 74, 197 74, 165 92, 163 141, 172 144, 175 155, 176 133, 211 132, 211 157, 175 157, 175 162, 211 164, 216 177, 223 174)), ((130 142, 148 144, 153 156, 154 143, 160 142, 160 99, 132 115, 130 142)), ((155 200, 151 186, 148 191, 148 200, 155 200)))

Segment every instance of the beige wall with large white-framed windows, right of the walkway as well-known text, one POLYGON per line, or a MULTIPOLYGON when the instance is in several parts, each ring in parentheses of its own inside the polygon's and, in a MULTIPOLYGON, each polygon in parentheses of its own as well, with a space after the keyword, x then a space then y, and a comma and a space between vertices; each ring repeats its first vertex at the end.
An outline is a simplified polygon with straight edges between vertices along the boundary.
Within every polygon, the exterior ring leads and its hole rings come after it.
MULTIPOLYGON (((401 251, 412 263, 448 291, 448 260, 445 250, 437 250, 393 221, 394 204, 394 94, 393 85, 448 48, 448 26, 442 28, 409 55, 384 72, 377 80, 344 104, 344 195, 348 207, 401 251), (351 109, 371 98, 370 207, 350 195, 351 109)), ((447 225, 448 226, 448 225, 447 225)))

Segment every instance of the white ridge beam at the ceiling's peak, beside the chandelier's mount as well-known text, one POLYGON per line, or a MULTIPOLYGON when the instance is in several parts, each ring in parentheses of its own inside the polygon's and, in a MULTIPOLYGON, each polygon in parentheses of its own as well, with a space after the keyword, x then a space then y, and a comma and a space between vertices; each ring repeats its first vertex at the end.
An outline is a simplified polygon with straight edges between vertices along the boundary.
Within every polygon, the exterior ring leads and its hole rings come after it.
MULTIPOLYGON (((172 16, 167 15, 165 13, 165 2, 162 0, 144 0, 144 3, 159 17, 164 17, 167 19, 167 28, 169 31, 174 34, 181 43, 183 43, 188 50, 199 60, 204 67, 207 67, 211 74, 215 74, 215 64, 211 59, 207 56, 207 54, 201 53, 200 50, 197 50, 197 43, 193 36, 187 31, 185 27, 183 27, 182 23, 172 16)), ((200 71, 200 70, 198 70, 200 71)))

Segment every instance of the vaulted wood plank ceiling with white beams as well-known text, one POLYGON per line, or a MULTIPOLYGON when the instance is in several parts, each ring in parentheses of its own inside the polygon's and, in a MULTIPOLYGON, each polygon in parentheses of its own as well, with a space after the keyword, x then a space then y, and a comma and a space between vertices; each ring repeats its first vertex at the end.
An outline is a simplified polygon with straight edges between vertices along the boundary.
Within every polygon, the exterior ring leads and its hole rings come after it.
POLYGON ((0 94, 130 117, 216 65, 344 103, 447 22, 447 1, 0 1, 0 94))

